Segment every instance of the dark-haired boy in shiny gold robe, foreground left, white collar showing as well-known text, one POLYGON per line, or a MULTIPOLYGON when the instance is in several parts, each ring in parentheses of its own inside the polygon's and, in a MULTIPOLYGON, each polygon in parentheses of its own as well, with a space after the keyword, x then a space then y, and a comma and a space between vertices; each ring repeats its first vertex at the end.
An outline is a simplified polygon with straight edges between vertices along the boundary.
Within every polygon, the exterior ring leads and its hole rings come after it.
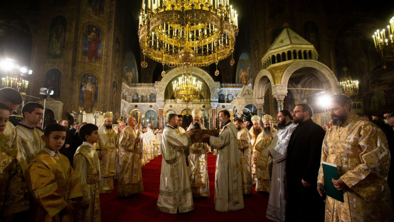
POLYGON ((73 221, 74 205, 82 192, 70 161, 59 153, 66 139, 66 129, 51 124, 44 129, 41 139, 45 146, 25 171, 26 183, 35 201, 30 204, 34 221, 73 221))

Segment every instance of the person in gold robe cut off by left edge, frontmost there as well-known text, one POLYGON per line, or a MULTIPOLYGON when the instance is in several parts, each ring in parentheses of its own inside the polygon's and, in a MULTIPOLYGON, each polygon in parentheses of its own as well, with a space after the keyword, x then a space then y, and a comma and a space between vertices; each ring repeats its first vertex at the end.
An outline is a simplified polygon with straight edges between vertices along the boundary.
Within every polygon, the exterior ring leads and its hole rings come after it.
MULTIPOLYGON (((4 90, 4 89, 1 89, 4 90)), ((7 90, 6 90, 7 91, 7 90)), ((1 95, 1 93, 0 93, 1 95)), ((17 92, 19 95, 19 92, 17 92)), ((20 96, 20 95, 19 95, 20 96)), ((22 102, 22 98, 20 99, 22 102)), ((13 109, 12 109, 13 110, 13 109)), ((0 220, 12 214, 29 210, 28 189, 22 169, 26 169, 26 159, 15 127, 8 121, 9 107, 0 104, 0 220)))

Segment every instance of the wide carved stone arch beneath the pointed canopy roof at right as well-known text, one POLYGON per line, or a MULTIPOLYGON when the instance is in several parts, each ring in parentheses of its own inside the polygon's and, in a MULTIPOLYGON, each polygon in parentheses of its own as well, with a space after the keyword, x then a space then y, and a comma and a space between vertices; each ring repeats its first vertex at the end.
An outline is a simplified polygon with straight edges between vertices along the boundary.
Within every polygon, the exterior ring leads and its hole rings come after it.
POLYGON ((342 93, 334 73, 324 64, 314 60, 299 61, 287 67, 282 74, 282 80, 280 82, 282 88, 287 88, 290 76, 301 68, 313 68, 317 70, 318 72, 315 73, 315 76, 322 82, 327 93, 342 93))

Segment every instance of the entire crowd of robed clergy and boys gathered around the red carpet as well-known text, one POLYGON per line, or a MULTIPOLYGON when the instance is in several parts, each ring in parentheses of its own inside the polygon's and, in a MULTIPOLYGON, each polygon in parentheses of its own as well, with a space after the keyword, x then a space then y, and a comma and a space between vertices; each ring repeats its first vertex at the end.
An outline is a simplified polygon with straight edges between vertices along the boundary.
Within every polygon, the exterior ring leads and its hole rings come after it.
POLYGON ((198 108, 187 129, 176 114, 168 115, 164 130, 153 130, 151 123, 141 127, 134 117, 114 128, 107 112, 100 127, 76 122, 68 129, 61 120, 42 130, 37 126, 44 107, 36 102, 24 103, 22 123, 9 121, 22 97, 2 88, 0 220, 100 221, 100 193, 113 192, 114 179, 118 196, 143 192, 141 168, 159 155, 157 209, 189 212, 193 198, 210 196, 211 152, 217 211, 244 208, 243 198, 255 187, 253 195, 269 194, 266 217, 275 221, 394 221, 394 113, 374 120, 380 117, 351 114, 346 95, 330 99, 332 120, 324 126, 313 122, 311 106, 302 103, 281 110, 276 121, 255 115, 232 122, 228 110, 220 110, 217 134, 205 129, 198 108), (336 167, 337 177, 325 177, 322 164, 336 167))

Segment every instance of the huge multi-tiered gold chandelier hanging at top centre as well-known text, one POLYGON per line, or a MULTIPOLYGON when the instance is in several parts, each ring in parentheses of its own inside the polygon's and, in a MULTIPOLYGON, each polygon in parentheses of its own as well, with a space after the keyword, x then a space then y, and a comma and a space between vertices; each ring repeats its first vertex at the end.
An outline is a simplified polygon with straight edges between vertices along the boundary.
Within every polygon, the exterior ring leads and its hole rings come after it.
MULTIPOLYGON (((208 66, 234 52, 237 14, 229 0, 142 0, 139 45, 164 65, 208 66)), ((231 60, 231 65, 234 60, 231 60)), ((219 71, 215 72, 219 75, 219 71)))

